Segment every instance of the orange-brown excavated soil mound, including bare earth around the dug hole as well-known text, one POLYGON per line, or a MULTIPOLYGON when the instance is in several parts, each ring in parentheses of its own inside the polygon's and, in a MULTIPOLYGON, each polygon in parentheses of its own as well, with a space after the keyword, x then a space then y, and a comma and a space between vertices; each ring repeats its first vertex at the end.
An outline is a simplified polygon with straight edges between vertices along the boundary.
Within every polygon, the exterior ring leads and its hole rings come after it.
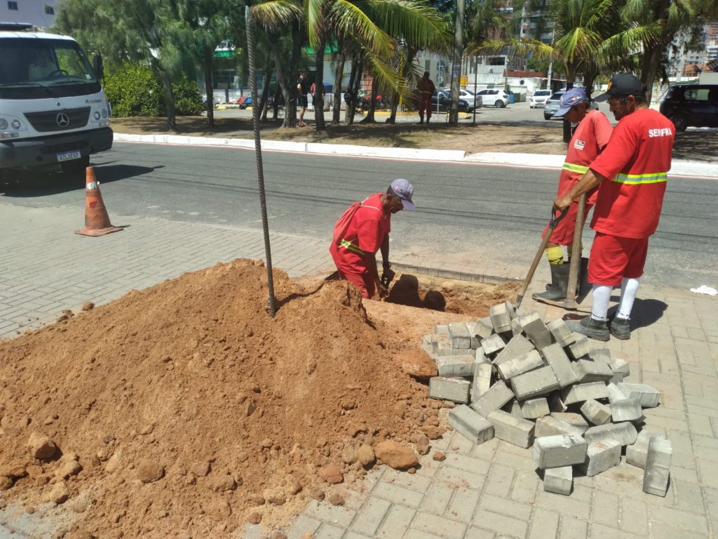
POLYGON ((397 279, 363 302, 275 270, 272 319, 266 268, 236 260, 0 341, 4 511, 43 537, 228 538, 342 504, 380 443, 445 430, 421 336, 518 288, 397 279))

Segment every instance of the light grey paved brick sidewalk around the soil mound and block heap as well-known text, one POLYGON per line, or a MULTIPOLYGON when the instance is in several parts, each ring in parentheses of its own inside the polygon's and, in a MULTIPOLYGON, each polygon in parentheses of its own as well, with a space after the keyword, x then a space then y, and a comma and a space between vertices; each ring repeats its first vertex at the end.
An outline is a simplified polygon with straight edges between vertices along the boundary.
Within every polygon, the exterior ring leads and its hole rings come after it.
MULTIPOLYGON (((69 208, 0 202, 0 336, 52 321, 86 300, 106 302, 182 272, 264 254, 255 230, 113 216, 129 229, 86 238, 72 233, 80 219, 69 208)), ((290 275, 330 267, 324 239, 276 235, 272 245, 274 264, 290 275)), ((447 451, 446 461, 424 457, 414 475, 382 467, 345 507, 312 502, 289 537, 305 531, 315 539, 718 537, 718 299, 649 287, 639 297, 641 327, 630 341, 612 339, 607 347, 630 361, 630 381, 663 391, 661 407, 645 410, 645 428, 673 442, 665 499, 644 494, 643 471, 625 463, 577 478, 571 497, 549 494, 530 451, 495 440, 472 446, 449 434, 434 443, 447 451)), ((563 314, 530 299, 523 306, 549 319, 563 314)), ((14 535, 0 527, 0 538, 45 535, 25 519, 14 535)), ((238 537, 260 533, 248 526, 238 537)))

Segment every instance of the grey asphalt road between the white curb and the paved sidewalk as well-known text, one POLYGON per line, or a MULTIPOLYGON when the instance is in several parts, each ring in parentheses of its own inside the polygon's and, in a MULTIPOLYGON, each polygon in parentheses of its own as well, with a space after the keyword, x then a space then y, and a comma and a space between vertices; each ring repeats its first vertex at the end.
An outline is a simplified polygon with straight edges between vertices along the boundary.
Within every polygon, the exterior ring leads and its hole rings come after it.
MULTIPOLYGON (((260 228, 254 153, 242 149, 116 143, 95 155, 112 215, 260 228)), ((393 219, 393 252, 419 264, 523 277, 549 218, 558 172, 533 168, 264 153, 271 230, 330 238, 349 203, 414 183, 416 211, 393 219)), ((82 180, 61 175, 6 185, 19 206, 82 206, 82 180)), ((670 178, 645 282, 718 285, 718 181, 670 178)), ((589 244, 592 231, 584 231, 589 244)), ((541 265, 541 271, 548 270, 541 265)))

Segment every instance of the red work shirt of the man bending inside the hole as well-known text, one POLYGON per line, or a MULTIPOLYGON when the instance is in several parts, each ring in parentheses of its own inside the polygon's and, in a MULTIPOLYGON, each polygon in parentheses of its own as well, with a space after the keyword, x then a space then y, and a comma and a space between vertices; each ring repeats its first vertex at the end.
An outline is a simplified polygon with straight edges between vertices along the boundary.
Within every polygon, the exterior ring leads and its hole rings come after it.
POLYGON ((362 202, 339 247, 332 246, 332 257, 342 272, 368 272, 364 253, 376 253, 391 231, 391 211, 381 205, 383 193, 375 193, 362 202))

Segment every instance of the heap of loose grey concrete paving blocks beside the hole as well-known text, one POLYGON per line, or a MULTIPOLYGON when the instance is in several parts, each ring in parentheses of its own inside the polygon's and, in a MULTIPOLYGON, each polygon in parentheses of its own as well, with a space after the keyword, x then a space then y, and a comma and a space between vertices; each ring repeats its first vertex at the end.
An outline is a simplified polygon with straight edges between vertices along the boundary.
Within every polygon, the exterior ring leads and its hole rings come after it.
POLYGON ((594 476, 625 454, 645 469, 643 491, 666 495, 671 442, 639 434, 643 408, 658 406, 661 393, 624 382, 628 362, 561 319, 544 323, 505 302, 475 322, 436 326, 423 348, 439 371, 429 397, 458 404, 449 424, 473 443, 533 446, 547 491, 568 495, 574 472, 594 476))

